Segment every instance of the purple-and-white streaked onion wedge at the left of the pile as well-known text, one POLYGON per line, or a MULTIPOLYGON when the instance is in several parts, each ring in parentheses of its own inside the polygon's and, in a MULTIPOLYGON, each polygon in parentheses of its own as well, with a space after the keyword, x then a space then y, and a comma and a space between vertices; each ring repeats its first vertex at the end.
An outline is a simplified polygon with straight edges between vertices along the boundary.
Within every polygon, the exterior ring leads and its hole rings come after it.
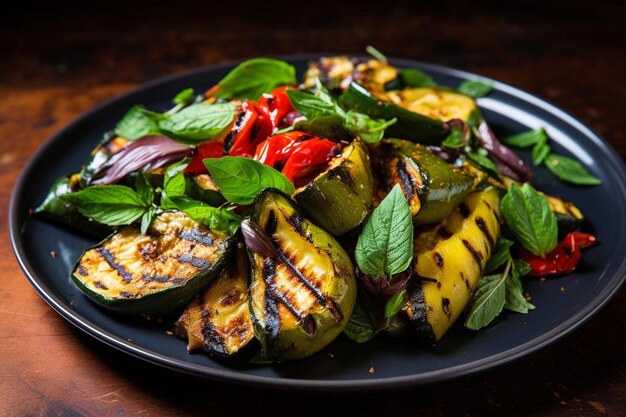
POLYGON ((165 136, 144 136, 113 155, 91 178, 89 184, 114 184, 142 168, 158 168, 189 155, 193 146, 165 136))

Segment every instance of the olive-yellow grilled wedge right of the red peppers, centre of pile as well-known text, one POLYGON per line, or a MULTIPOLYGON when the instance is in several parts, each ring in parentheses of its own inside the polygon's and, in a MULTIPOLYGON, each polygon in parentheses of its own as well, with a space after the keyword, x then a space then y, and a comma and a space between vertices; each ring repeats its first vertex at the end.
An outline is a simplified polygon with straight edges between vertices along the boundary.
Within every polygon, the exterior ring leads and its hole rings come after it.
POLYGON ((297 189, 293 198, 315 224, 338 236, 365 220, 372 208, 373 187, 369 152, 355 139, 325 172, 297 189))

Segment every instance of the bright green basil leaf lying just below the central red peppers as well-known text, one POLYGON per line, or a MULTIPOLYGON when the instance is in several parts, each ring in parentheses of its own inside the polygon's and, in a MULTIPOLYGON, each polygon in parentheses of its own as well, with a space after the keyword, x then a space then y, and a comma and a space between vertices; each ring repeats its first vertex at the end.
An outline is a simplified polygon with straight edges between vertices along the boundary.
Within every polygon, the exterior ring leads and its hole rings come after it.
POLYGON ((293 184, 274 168, 241 156, 205 159, 204 165, 226 200, 250 204, 265 188, 276 188, 291 195, 293 184))

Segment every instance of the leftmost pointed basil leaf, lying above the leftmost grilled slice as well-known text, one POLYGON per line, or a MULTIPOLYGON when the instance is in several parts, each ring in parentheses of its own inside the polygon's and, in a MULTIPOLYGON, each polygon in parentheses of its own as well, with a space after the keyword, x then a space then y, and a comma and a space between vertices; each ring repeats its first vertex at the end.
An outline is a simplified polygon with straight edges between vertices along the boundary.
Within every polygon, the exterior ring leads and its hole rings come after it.
POLYGON ((83 216, 108 226, 131 224, 149 208, 135 190, 124 185, 94 185, 60 197, 83 216))

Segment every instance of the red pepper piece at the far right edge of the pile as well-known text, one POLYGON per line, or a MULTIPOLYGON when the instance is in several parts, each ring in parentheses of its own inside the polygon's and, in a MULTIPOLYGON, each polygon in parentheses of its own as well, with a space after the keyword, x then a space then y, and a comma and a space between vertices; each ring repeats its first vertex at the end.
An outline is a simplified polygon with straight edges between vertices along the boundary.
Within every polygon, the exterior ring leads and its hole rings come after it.
POLYGON ((561 240, 552 252, 541 258, 527 251, 520 250, 520 257, 530 265, 530 275, 543 277, 546 275, 565 274, 572 272, 582 256, 580 250, 597 243, 594 235, 572 232, 561 240))

